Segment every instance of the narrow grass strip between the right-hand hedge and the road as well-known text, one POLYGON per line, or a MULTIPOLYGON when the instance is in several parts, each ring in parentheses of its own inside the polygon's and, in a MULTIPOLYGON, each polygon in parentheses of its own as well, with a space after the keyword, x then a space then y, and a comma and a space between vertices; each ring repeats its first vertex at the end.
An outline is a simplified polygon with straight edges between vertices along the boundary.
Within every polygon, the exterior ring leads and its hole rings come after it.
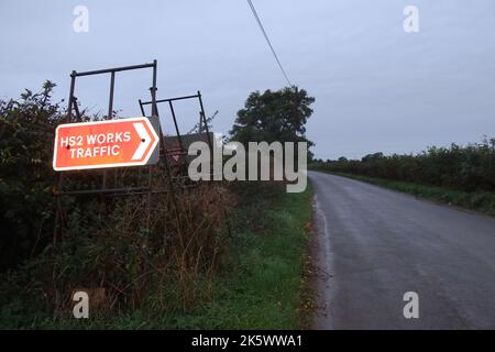
POLYGON ((330 172, 326 173, 353 178, 356 180, 398 190, 405 194, 414 195, 432 201, 454 205, 461 208, 475 210, 495 217, 495 194, 493 193, 468 193, 455 189, 448 189, 443 187, 425 186, 362 175, 330 173, 330 172))

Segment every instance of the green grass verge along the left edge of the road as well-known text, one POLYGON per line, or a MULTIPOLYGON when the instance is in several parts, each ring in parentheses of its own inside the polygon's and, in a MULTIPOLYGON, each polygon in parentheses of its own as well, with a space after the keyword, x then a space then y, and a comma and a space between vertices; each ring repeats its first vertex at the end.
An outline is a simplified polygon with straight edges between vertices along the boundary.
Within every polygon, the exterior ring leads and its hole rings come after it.
POLYGON ((230 271, 216 280, 213 299, 196 315, 182 317, 177 328, 304 327, 311 194, 310 185, 300 194, 251 194, 233 216, 230 271))

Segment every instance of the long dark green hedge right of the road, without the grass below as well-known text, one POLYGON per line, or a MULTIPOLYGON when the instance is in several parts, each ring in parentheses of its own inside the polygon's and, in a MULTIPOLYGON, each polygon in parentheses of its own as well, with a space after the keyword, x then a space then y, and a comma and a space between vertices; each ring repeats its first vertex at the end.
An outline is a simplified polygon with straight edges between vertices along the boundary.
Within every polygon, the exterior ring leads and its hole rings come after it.
POLYGON ((463 191, 495 191, 495 139, 465 146, 431 146, 416 155, 374 153, 361 160, 315 160, 310 167, 463 191))

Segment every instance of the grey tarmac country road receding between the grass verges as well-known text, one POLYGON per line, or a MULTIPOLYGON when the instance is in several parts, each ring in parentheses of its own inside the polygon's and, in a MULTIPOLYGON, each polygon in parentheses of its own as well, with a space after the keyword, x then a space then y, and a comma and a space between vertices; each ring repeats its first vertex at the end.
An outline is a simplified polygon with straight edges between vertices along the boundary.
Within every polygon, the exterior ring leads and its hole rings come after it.
POLYGON ((315 189, 317 329, 495 329, 495 219, 344 177, 315 189), (404 294, 419 318, 403 315, 404 294))

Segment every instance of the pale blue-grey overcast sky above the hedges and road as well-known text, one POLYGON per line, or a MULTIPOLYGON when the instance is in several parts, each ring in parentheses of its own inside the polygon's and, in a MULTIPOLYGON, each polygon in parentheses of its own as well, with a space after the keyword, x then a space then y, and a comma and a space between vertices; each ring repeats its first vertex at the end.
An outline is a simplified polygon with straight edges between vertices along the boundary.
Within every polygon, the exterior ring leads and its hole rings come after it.
MULTIPOLYGON (((410 153, 495 136, 495 1, 253 0, 292 81, 316 98, 307 136, 317 157, 410 153), (419 9, 419 33, 403 29, 419 9)), ((158 61, 158 98, 201 90, 216 132, 228 132, 253 90, 285 79, 245 0, 0 1, 0 99, 69 73, 158 61), (76 33, 76 6, 89 32, 76 33)), ((114 108, 140 116, 151 72, 117 75, 114 108)), ((81 77, 76 96, 106 112, 109 76, 81 77)), ((180 129, 197 121, 177 106, 180 129)), ((165 130, 169 118, 161 108, 165 130)))

